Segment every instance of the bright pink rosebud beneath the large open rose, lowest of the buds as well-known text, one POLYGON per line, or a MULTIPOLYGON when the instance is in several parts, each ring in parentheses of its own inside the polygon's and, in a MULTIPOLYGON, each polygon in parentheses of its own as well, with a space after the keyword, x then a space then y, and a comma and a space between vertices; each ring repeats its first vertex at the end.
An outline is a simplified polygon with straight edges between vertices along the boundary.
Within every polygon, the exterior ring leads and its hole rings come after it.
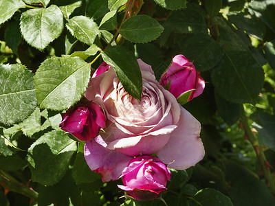
POLYGON ((135 157, 122 172, 124 185, 118 187, 138 201, 149 201, 167 190, 170 178, 171 173, 161 160, 153 156, 135 157))

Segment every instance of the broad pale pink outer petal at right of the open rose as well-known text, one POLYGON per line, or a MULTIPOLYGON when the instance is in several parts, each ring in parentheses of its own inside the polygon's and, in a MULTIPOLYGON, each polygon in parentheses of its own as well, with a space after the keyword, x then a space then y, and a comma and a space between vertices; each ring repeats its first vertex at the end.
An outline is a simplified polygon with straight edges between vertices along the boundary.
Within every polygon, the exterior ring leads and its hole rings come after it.
POLYGON ((166 146, 157 152, 157 157, 168 164, 168 168, 185 170, 204 157, 203 144, 199 138, 201 124, 181 106, 177 125, 166 146))

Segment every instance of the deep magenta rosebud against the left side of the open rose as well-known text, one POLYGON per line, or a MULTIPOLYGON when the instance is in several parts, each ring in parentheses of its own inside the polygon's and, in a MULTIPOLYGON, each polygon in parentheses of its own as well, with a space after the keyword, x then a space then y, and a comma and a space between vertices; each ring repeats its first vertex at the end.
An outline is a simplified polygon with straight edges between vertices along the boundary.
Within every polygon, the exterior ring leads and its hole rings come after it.
POLYGON ((69 108, 59 126, 80 141, 87 141, 98 135, 100 129, 105 127, 105 122, 102 108, 87 101, 87 104, 80 103, 69 108))

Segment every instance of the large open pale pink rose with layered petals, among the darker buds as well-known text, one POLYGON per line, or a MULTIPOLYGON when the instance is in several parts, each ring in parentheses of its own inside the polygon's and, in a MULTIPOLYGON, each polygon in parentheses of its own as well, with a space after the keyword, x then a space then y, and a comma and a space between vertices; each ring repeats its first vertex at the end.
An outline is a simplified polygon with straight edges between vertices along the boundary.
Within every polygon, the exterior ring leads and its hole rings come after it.
POLYGON ((201 125, 164 89, 150 65, 137 60, 142 72, 142 98, 132 98, 112 67, 91 78, 85 93, 107 115, 107 127, 85 144, 87 164, 102 181, 118 179, 134 156, 156 153, 170 168, 184 170, 203 159, 201 125))

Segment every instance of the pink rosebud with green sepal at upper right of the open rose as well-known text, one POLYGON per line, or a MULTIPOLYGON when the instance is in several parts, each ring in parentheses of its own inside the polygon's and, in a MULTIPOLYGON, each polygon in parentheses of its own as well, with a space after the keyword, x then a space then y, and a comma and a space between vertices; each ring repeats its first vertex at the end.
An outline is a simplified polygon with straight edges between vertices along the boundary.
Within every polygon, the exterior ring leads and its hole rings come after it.
POLYGON ((160 84, 173 93, 180 104, 185 104, 199 96, 205 82, 188 58, 179 54, 173 58, 172 64, 162 75, 160 84))

